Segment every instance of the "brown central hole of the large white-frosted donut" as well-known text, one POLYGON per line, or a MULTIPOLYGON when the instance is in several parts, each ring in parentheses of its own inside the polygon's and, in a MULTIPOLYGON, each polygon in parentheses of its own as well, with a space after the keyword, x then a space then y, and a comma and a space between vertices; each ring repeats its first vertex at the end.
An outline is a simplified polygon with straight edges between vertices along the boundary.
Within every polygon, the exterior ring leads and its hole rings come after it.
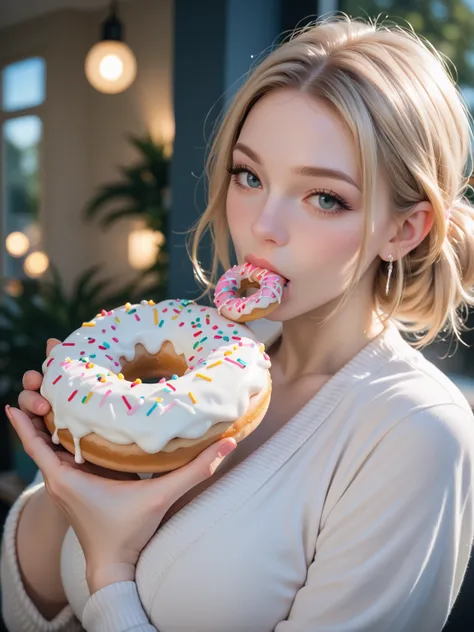
POLYGON ((140 378, 145 384, 154 384, 162 378, 169 379, 172 375, 181 377, 188 365, 184 355, 177 355, 173 343, 165 341, 160 351, 153 355, 138 343, 135 345, 133 360, 120 358, 121 372, 126 380, 133 382, 140 378))

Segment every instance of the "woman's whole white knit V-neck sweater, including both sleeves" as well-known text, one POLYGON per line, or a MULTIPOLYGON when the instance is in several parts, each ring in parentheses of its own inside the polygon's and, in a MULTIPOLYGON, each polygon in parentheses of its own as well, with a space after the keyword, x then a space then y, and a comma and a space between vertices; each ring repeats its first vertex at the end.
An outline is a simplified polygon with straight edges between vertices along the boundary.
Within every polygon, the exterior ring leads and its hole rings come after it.
POLYGON ((438 632, 473 541, 473 421, 458 389, 390 327, 157 531, 136 582, 90 597, 69 530, 69 605, 50 622, 15 551, 33 486, 5 526, 8 629, 438 632))

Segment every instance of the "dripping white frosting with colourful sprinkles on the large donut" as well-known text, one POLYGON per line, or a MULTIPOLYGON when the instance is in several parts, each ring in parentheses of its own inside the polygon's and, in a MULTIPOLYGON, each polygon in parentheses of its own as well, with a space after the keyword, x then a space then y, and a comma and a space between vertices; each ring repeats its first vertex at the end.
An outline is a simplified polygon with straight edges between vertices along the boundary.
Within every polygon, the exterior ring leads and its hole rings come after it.
POLYGON ((41 394, 56 429, 71 432, 81 462, 80 439, 91 432, 155 453, 174 438, 199 439, 214 424, 234 422, 266 387, 269 367, 252 330, 215 308, 142 301, 103 311, 57 345, 43 363, 41 394), (184 355, 183 376, 154 384, 120 379, 120 358, 133 360, 135 345, 156 354, 165 341, 184 355))

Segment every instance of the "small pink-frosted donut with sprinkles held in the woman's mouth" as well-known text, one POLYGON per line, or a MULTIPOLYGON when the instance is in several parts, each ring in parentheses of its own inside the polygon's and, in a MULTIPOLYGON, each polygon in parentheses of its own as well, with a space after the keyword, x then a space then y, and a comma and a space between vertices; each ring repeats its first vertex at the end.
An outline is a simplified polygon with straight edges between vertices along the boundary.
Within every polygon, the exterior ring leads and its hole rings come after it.
POLYGON ((214 303, 219 314, 237 323, 264 318, 281 303, 286 279, 251 263, 235 265, 219 279, 214 303), (258 288, 242 298, 248 288, 258 288))

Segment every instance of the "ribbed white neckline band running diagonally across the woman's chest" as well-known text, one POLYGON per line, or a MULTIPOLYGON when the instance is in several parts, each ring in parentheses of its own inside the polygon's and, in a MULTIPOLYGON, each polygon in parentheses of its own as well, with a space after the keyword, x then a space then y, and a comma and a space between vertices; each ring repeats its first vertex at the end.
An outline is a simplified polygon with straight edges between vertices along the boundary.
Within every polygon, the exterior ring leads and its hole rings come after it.
POLYGON ((409 345, 389 324, 323 384, 293 418, 158 529, 139 559, 137 581, 141 583, 140 576, 146 581, 153 579, 156 586, 177 558, 218 520, 255 494, 308 441, 349 389, 377 372, 397 349, 406 348, 409 345))

